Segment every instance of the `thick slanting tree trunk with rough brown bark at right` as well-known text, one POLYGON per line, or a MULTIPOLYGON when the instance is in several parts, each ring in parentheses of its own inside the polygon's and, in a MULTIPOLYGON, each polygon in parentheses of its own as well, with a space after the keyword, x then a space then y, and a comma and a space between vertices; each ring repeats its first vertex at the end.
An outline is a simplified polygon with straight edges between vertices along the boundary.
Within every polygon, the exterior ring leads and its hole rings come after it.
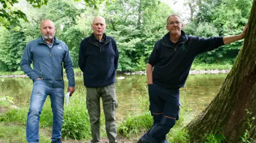
POLYGON ((246 130, 249 141, 256 140, 256 0, 248 23, 244 45, 221 89, 186 127, 191 142, 201 142, 202 136, 217 130, 231 142, 242 142, 246 130))

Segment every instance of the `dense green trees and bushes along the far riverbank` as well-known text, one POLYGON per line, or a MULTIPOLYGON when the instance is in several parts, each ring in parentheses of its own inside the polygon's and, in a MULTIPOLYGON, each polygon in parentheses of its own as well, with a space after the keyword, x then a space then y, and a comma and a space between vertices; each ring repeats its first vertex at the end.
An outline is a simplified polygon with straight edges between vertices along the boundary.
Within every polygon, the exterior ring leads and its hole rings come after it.
MULTIPOLYGON (((19 27, 10 23, 0 15, 0 23, 12 30, 0 27, 0 71, 20 70, 19 63, 25 45, 38 38, 40 22, 50 19, 55 23, 56 37, 64 41, 69 47, 73 64, 78 68, 78 51, 81 40, 92 33, 91 22, 94 16, 101 15, 106 19, 106 33, 114 37, 119 50, 118 71, 145 70, 148 57, 157 40, 167 32, 166 18, 173 13, 169 6, 154 0, 107 1, 99 8, 102 0, 75 1, 0 1, 6 3, 6 8, 24 12, 24 18, 15 15, 19 27), (47 3, 47 5, 46 5, 47 3), (111 3, 111 4, 110 4, 111 3), (30 6, 34 5, 34 7, 30 6), (35 7, 40 7, 35 8, 35 7), (58 15, 58 16, 57 16, 58 15)), ((251 0, 237 1, 187 1, 198 9, 183 30, 188 35, 199 37, 230 36, 242 32, 249 18, 251 0)), ((0 12, 1 13, 1 12, 0 12)), ((10 14, 10 13, 9 13, 10 14)), ((10 16, 10 15, 9 15, 10 16)), ((13 20, 15 21, 15 20, 13 20)), ((233 64, 236 55, 243 44, 243 40, 222 46, 214 51, 200 54, 195 63, 233 64)))

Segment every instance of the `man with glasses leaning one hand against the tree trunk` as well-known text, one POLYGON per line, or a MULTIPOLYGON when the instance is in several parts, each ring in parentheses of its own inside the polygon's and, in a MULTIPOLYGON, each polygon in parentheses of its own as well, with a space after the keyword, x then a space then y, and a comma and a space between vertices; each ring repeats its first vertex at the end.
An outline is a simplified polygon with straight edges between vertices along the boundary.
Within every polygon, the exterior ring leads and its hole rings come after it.
POLYGON ((170 15, 166 21, 169 32, 156 42, 149 57, 148 93, 154 122, 138 142, 167 142, 166 134, 178 120, 179 88, 185 85, 196 55, 241 40, 247 30, 246 26, 241 35, 200 38, 186 35, 182 28, 180 16, 170 15))

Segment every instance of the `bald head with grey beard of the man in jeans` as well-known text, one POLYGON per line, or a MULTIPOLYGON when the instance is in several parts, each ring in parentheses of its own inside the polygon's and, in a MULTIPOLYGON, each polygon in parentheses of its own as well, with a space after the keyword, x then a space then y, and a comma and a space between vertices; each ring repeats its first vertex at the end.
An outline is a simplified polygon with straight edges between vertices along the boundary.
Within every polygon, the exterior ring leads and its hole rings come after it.
POLYGON ((45 40, 52 40, 55 36, 55 26, 51 20, 43 20, 40 24, 40 32, 45 40))

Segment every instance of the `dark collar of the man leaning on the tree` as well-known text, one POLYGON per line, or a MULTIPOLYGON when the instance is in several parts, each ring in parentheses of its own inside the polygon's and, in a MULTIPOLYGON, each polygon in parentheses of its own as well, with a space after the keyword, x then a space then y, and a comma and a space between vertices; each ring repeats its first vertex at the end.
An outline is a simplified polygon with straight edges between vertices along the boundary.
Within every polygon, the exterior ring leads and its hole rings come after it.
POLYGON ((162 43, 164 45, 166 45, 167 47, 175 47, 177 44, 180 44, 180 43, 184 43, 185 41, 187 41, 188 37, 186 36, 186 33, 181 30, 181 36, 180 36, 180 39, 178 40, 177 43, 173 43, 171 40, 170 40, 170 33, 166 33, 166 35, 162 38, 162 43))

